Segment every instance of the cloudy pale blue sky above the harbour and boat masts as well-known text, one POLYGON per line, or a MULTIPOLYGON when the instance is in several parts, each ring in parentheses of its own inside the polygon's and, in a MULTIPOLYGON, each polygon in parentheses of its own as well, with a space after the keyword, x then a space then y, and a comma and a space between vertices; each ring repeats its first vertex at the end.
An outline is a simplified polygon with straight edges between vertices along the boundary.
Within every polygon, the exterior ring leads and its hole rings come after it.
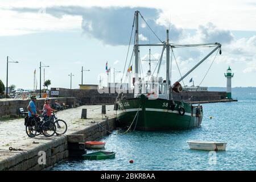
MULTIPOLYGON (((230 66, 234 73, 233 87, 256 86, 256 2, 249 0, 0 0, 0 79, 6 84, 9 56, 9 61, 19 62, 9 63, 9 85, 14 84, 16 88, 33 89, 36 69, 39 89, 40 61, 43 66, 49 66, 45 68, 45 79, 51 80, 50 87, 69 88, 68 75, 72 73, 72 88, 79 88, 81 67, 90 70, 84 72, 84 84, 99 84, 100 77, 106 84, 106 61, 112 70, 112 82, 114 68, 115 82, 119 82, 128 66, 125 61, 135 10, 140 11, 161 41, 166 40, 166 29, 170 29, 171 43, 222 44, 222 54, 214 59, 216 53, 213 53, 184 78, 184 85, 191 85, 189 80, 193 78, 195 85, 226 86, 224 73, 230 66)), ((140 43, 160 43, 139 18, 140 43)), ((180 78, 179 69, 184 75, 212 49, 174 49, 172 82, 180 78)), ((151 47, 152 56, 159 59, 161 50, 151 47)), ((140 56, 141 60, 148 59, 148 47, 140 49, 140 56)), ((165 77, 165 58, 164 55, 160 69, 162 77, 165 77)), ((152 69, 156 63, 152 61, 152 69)), ((142 61, 142 67, 145 75, 147 61, 142 61)), ((42 68, 42 82, 43 75, 42 68)))

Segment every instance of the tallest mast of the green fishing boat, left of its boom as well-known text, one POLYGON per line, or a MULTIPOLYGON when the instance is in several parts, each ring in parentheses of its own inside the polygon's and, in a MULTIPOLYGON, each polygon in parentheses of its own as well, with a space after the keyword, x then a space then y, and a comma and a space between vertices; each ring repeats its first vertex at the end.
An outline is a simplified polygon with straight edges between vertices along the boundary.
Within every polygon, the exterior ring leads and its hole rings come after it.
POLYGON ((139 11, 135 11, 135 82, 139 81, 139 11))

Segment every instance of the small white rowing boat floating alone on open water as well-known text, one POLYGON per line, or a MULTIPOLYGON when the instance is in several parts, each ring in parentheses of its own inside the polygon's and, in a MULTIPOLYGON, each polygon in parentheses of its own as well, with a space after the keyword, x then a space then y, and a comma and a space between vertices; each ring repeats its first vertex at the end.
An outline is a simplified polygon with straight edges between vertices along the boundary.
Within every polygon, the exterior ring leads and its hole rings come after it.
POLYGON ((189 140, 187 143, 195 150, 226 150, 226 142, 189 140))

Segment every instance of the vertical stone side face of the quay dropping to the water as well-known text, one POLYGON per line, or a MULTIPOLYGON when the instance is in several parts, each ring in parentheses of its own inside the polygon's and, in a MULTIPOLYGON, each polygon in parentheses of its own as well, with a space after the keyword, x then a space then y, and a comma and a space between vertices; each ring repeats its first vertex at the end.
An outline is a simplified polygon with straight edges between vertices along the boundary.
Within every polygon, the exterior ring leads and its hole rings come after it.
MULTIPOLYGON (((72 134, 84 135, 84 142, 89 140, 96 140, 106 135, 109 135, 108 131, 115 129, 115 118, 105 119, 99 123, 95 123, 85 129, 75 131, 72 134)), ((69 134, 69 135, 72 135, 69 134)), ((35 139, 38 144, 32 144, 27 146, 27 150, 24 151, 0 151, 1 155, 6 155, 6 159, 0 160, 0 171, 16 171, 16 170, 31 170, 39 171, 43 169, 49 169, 54 164, 61 162, 61 160, 67 159, 68 152, 68 137, 66 135, 51 137, 46 143, 40 143, 40 140, 35 139), (38 160, 40 156, 39 152, 46 152, 46 164, 39 164, 38 160)))

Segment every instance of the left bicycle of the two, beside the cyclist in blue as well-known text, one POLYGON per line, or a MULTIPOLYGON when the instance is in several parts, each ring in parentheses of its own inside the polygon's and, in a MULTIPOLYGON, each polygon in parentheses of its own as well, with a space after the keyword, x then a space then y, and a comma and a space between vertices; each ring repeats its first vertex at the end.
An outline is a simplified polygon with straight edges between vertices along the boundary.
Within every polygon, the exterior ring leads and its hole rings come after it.
POLYGON ((55 123, 46 120, 44 115, 30 117, 26 123, 26 133, 28 137, 35 137, 43 134, 45 137, 52 137, 56 132, 55 123))

